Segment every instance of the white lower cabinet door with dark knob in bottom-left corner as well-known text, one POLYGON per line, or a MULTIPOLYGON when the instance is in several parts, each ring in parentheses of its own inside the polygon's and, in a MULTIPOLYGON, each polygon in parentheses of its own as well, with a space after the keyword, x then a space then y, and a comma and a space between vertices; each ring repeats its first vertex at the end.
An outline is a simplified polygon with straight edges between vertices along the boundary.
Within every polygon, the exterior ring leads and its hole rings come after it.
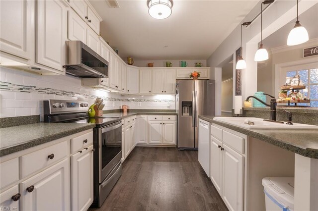
POLYGON ((0 208, 1 210, 13 210, 15 209, 16 211, 20 210, 20 199, 17 201, 13 201, 12 197, 17 196, 19 194, 19 187, 18 185, 13 186, 12 188, 1 192, 0 194, 0 208), (10 209, 6 209, 10 208, 10 209))

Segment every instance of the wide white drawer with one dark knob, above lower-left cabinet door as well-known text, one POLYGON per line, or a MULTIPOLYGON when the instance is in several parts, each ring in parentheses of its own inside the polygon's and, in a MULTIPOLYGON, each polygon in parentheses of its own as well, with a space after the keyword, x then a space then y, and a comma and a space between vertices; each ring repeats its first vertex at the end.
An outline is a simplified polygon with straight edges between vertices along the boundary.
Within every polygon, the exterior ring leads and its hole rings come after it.
POLYGON ((30 175, 41 168, 44 168, 51 163, 54 163, 70 154, 70 149, 67 141, 60 142, 53 146, 35 151, 34 153, 27 154, 21 157, 21 179, 30 175), (54 155, 50 159, 50 155, 54 155))

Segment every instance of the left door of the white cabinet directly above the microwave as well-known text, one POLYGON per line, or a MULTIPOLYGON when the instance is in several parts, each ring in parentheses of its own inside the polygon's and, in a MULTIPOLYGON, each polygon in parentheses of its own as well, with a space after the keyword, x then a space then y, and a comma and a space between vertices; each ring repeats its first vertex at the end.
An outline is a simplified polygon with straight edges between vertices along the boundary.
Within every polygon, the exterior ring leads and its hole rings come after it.
POLYGON ((68 38, 69 40, 79 40, 86 45, 87 41, 87 25, 72 9, 69 10, 69 26, 68 38))

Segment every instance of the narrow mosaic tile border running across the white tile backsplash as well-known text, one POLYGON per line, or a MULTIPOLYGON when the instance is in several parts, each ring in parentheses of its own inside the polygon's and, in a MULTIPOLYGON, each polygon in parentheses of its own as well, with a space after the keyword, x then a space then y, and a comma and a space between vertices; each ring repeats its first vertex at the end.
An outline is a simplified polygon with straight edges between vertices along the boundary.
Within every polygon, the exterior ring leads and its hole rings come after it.
POLYGON ((158 99, 119 99, 111 98, 97 95, 89 95, 86 93, 79 92, 70 92, 64 90, 57 90, 52 88, 40 88, 36 86, 25 86, 19 84, 12 84, 9 82, 0 81, 0 90, 12 91, 12 92, 24 92, 24 93, 39 93, 47 95, 57 95, 57 96, 66 96, 66 97, 76 97, 84 99, 96 99, 97 97, 102 98, 104 101, 117 101, 117 102, 155 102, 155 103, 174 103, 174 100, 158 100, 158 99))

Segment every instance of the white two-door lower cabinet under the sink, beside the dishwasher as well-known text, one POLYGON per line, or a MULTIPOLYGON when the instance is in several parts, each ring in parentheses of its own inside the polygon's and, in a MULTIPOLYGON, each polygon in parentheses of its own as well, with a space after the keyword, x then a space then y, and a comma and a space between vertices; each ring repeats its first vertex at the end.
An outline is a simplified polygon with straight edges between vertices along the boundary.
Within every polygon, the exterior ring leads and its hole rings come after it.
POLYGON ((244 146, 246 136, 243 134, 238 136, 238 133, 233 134, 215 125, 211 126, 211 133, 212 183, 230 211, 243 211, 244 147, 241 145, 244 146), (239 142, 241 144, 238 144, 239 142))

